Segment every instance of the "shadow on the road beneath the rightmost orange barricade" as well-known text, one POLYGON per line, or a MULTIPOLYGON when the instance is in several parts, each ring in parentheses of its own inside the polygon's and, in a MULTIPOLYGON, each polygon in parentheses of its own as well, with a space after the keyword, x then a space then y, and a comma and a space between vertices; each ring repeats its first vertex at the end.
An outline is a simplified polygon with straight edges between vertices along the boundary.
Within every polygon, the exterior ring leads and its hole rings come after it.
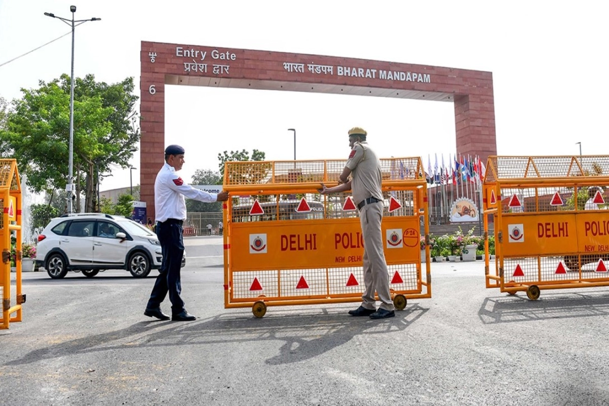
POLYGON ((551 318, 609 315, 609 292, 545 293, 529 300, 522 293, 486 298, 478 312, 484 324, 513 323, 551 318))

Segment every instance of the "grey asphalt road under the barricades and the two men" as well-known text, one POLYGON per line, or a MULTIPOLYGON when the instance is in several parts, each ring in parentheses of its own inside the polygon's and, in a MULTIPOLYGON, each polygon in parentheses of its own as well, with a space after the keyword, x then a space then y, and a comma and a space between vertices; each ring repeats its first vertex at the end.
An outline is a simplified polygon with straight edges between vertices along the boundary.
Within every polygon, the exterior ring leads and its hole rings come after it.
POLYGON ((156 271, 24 273, 24 321, 0 330, 0 404, 609 404, 609 289, 529 301, 485 289, 482 262, 434 263, 433 297, 395 318, 350 317, 352 303, 257 319, 224 309, 220 237, 185 243, 190 323, 143 315, 156 271))

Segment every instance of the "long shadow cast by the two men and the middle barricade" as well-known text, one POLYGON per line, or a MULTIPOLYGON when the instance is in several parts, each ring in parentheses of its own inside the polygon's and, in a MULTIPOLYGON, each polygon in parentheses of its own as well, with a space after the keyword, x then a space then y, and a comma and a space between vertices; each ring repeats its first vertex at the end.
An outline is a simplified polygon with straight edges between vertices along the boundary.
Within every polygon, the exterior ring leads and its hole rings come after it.
POLYGON ((395 318, 370 320, 351 317, 346 310, 328 313, 273 310, 273 317, 257 319, 225 313, 189 323, 140 321, 124 329, 87 335, 35 349, 3 365, 23 365, 46 359, 116 349, 160 348, 167 346, 284 341, 280 354, 266 361, 269 365, 298 362, 316 357, 343 345, 356 335, 402 331, 415 323, 428 309, 413 304, 396 312, 395 318))

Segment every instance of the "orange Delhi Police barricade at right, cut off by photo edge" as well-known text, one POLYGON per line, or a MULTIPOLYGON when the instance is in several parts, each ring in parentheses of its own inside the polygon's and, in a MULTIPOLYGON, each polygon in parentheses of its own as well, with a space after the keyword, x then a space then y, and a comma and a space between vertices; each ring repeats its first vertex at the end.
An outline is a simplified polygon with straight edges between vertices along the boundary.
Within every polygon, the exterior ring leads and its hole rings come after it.
POLYGON ((487 288, 535 300, 542 289, 609 285, 609 156, 490 156, 484 226, 495 222, 487 288))

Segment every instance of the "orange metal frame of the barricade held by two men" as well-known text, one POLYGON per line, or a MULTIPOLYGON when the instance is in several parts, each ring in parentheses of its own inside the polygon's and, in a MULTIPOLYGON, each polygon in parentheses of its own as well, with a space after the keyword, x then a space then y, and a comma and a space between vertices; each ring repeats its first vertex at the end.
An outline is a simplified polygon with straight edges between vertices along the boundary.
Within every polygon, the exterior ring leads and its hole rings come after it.
MULTIPOLYGON (((429 261, 429 221, 428 221, 428 210, 427 210, 427 183, 422 177, 423 165, 420 158, 391 158, 381 159, 382 166, 390 167, 391 173, 393 168, 398 166, 398 163, 407 161, 410 166, 407 172, 410 173, 409 177, 404 177, 402 172, 400 176, 396 176, 397 179, 393 178, 393 175, 384 173, 384 179, 382 180, 382 191, 384 194, 392 194, 400 191, 412 192, 412 196, 416 198, 416 204, 413 203, 412 218, 417 218, 418 234, 417 234, 417 264, 414 264, 417 272, 417 285, 414 289, 408 290, 393 290, 391 296, 396 309, 401 310, 406 307, 407 299, 414 298, 431 298, 431 266, 429 261), (423 219, 423 225, 420 224, 420 219, 423 219), (424 230, 424 236, 426 243, 426 257, 425 262, 425 274, 423 278, 423 268, 420 262, 420 231, 424 230), (423 292, 424 288, 424 292, 423 292)), ((225 164, 224 173, 224 190, 228 191, 230 198, 224 203, 224 290, 225 290, 225 308, 233 307, 248 307, 252 306, 252 312, 256 317, 262 317, 266 313, 267 306, 291 306, 291 305, 303 305, 303 304, 328 304, 328 303, 348 303, 354 301, 361 301, 361 291, 351 293, 328 293, 323 292, 316 295, 278 295, 267 296, 267 295, 256 295, 253 297, 236 297, 233 293, 235 292, 236 276, 234 275, 237 271, 233 270, 233 264, 231 264, 231 252, 234 249, 231 247, 234 243, 234 233, 238 233, 239 227, 244 224, 248 228, 256 226, 255 222, 245 222, 241 225, 239 222, 233 221, 233 203, 235 196, 247 195, 251 197, 256 195, 258 197, 275 195, 276 202, 279 205, 281 195, 319 195, 320 183, 326 184, 331 187, 337 184, 340 171, 345 166, 345 160, 328 160, 328 161, 245 161, 245 162, 227 162, 225 164), (311 173, 303 173, 303 169, 311 164, 317 169, 311 171, 311 173), (294 173, 298 172, 297 176, 291 176, 289 173, 286 176, 286 167, 293 167, 294 173), (247 184, 240 184, 242 179, 236 181, 236 173, 260 173, 261 168, 266 168, 269 171, 264 179, 258 179, 252 181, 252 178, 248 179, 247 184), (281 172, 281 173, 280 173, 281 172)), ((401 165, 401 164, 400 164, 401 165)), ((404 170, 403 167, 401 167, 404 170)), ((264 172, 264 171, 262 171, 264 172)), ((306 172, 306 170, 305 170, 306 172)), ((387 171, 385 171, 387 172, 387 171)), ((400 173, 400 170, 396 169, 396 173, 400 173)), ((255 177, 254 177, 255 178, 255 177)), ((333 225, 356 225, 359 227, 359 214, 355 212, 354 215, 346 218, 334 218, 328 219, 328 199, 329 197, 319 195, 320 199, 323 200, 323 221, 328 222, 329 226, 333 225)), ((256 200, 257 201, 257 200, 256 200)), ((306 223, 312 220, 289 220, 289 222, 281 222, 280 211, 277 209, 277 219, 274 226, 304 226, 306 223)), ((386 209, 385 209, 386 212, 386 209)), ((384 217, 383 223, 385 224, 387 217, 384 217)), ((385 250, 386 252, 387 250, 385 250)), ((389 262, 389 261, 388 261, 389 262)), ((413 265, 412 263, 409 263, 413 265)), ((389 264, 388 264, 389 267, 389 264)), ((362 265, 357 265, 357 268, 362 269, 362 265)), ((330 281, 328 273, 331 270, 337 269, 336 266, 326 266, 323 268, 315 268, 316 270, 322 270, 324 277, 326 278, 326 287, 329 289, 330 281)), ((281 292, 281 273, 289 273, 294 270, 308 270, 306 267, 290 266, 280 267, 278 271, 278 288, 277 292, 281 292)), ((270 270, 267 270, 270 271, 270 270)), ((351 274, 353 275, 353 273, 351 274)), ((363 284, 362 284, 363 285, 363 284)))

